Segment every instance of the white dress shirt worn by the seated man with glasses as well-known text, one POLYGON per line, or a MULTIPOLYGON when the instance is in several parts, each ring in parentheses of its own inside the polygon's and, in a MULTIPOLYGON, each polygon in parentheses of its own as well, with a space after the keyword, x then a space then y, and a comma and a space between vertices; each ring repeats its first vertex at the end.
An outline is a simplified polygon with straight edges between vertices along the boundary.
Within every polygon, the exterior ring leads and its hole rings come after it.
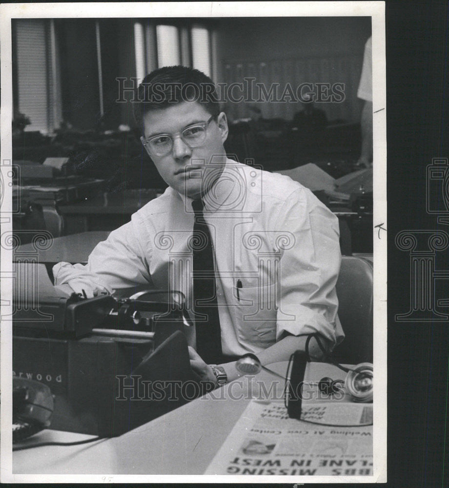
MULTIPOLYGON (((284 331, 320 332, 339 343, 344 335, 335 284, 341 255, 332 212, 289 177, 232 160, 203 201, 223 353, 257 354, 284 331)), ((191 202, 167 188, 98 244, 86 265, 56 264, 55 285, 89 295, 145 284, 179 290, 194 315, 191 202)))

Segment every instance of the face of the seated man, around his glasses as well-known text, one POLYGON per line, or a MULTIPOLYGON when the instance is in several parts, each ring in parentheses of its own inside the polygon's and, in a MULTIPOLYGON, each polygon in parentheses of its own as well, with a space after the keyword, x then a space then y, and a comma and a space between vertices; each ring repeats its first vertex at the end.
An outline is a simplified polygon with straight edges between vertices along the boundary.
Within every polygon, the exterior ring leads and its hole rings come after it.
MULTIPOLYGON (((143 118, 144 139, 160 134, 168 134, 173 138, 174 134, 181 133, 184 128, 209 119, 209 112, 198 102, 181 102, 167 108, 149 110, 143 118)), ((226 137, 227 122, 222 112, 218 119, 212 119, 207 125, 206 137, 201 146, 189 147, 177 136, 173 138, 170 152, 163 156, 150 156, 168 185, 195 199, 209 190, 214 181, 210 175, 217 174, 217 166, 224 165, 226 157, 223 143, 226 137)))

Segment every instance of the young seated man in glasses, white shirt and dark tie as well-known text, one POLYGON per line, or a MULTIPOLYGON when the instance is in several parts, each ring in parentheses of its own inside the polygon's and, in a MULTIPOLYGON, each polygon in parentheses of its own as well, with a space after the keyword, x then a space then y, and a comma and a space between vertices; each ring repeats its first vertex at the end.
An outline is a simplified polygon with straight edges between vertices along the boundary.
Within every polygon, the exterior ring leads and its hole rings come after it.
MULTIPOLYGON (((210 233, 210 303, 218 310, 211 326, 218 326, 223 353, 212 362, 222 362, 220 384, 238 377, 227 361, 247 352, 266 365, 304 349, 311 333, 320 333, 327 349, 340 342, 337 218, 301 184, 226 157, 226 116, 198 70, 160 68, 143 80, 137 100, 143 146, 169 187, 98 244, 85 266, 57 264, 55 284, 89 296, 143 284, 182 291, 198 335, 192 255, 198 237, 210 233), (201 218, 192 208, 200 200, 201 218), (202 219, 203 234, 194 231, 202 219)), ((196 334, 188 337, 192 346, 196 334)), ((319 353, 316 342, 310 347, 319 353)), ((216 366, 189 350, 192 368, 217 383, 216 366)))

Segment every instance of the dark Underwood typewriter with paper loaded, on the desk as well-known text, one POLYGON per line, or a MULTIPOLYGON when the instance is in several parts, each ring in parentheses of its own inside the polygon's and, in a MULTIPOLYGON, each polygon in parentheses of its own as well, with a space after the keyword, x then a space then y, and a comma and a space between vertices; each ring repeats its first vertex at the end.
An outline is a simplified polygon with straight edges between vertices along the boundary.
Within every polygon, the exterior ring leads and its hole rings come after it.
POLYGON ((2 317, 13 324, 13 375, 50 388, 49 428, 113 437, 205 392, 190 369, 181 293, 141 287, 88 299, 54 287, 48 265, 13 266, 13 313, 2 317))

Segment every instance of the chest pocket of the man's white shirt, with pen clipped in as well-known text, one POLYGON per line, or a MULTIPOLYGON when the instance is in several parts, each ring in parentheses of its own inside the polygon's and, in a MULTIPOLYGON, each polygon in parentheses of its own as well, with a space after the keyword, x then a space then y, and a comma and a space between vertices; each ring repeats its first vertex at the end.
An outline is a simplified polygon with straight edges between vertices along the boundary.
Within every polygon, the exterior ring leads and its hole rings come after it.
POLYGON ((276 342, 276 285, 239 288, 235 295, 237 337, 243 344, 265 349, 276 342))

